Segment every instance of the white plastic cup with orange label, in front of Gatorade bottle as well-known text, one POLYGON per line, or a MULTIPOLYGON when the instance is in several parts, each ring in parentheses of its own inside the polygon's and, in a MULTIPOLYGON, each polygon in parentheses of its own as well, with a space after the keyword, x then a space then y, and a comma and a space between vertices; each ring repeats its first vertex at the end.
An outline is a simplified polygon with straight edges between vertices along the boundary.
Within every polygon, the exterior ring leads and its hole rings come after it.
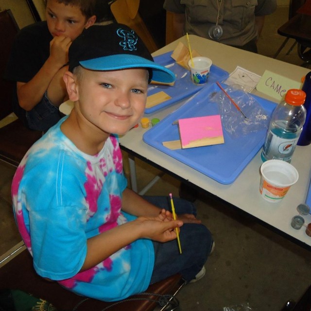
POLYGON ((280 202, 299 177, 297 170, 288 162, 268 160, 260 167, 261 197, 268 202, 280 202))

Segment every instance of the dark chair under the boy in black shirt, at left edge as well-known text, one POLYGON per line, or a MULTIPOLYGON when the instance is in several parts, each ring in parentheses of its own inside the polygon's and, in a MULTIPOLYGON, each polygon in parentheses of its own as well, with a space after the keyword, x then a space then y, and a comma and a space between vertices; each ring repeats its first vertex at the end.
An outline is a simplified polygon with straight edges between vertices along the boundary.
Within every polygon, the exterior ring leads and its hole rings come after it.
MULTIPOLYGON (((0 120, 13 112, 13 82, 5 81, 3 73, 18 30, 19 28, 11 11, 0 12, 0 120)), ((1 127, 0 160, 18 166, 27 150, 41 136, 41 132, 26 128, 18 119, 1 127)))

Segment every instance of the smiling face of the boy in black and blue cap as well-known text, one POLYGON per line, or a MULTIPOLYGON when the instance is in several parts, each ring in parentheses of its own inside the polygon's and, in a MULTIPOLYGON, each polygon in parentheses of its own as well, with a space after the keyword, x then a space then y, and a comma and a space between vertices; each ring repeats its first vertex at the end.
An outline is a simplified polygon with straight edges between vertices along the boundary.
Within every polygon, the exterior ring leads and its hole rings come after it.
POLYGON ((84 123, 108 135, 125 134, 138 123, 147 100, 147 69, 81 70, 75 108, 84 123))

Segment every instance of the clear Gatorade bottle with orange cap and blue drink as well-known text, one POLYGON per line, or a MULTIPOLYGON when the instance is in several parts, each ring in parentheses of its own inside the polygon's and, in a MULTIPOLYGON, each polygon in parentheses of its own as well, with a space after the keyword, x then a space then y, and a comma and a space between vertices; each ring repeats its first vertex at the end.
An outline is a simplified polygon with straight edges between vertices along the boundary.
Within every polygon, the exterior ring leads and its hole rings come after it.
POLYGON ((262 148, 262 161, 278 159, 291 162, 297 141, 306 120, 306 93, 290 89, 285 101, 272 113, 268 133, 262 148))

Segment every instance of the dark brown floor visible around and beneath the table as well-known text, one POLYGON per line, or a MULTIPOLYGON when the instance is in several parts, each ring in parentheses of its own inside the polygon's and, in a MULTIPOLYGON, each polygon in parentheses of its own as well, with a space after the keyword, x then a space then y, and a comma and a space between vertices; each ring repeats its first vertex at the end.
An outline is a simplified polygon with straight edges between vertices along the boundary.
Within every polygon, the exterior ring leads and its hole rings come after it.
MULTIPOLYGON (((288 17, 288 7, 278 7, 266 17, 259 38, 259 53, 272 57, 284 40, 276 29, 288 17)), ((296 48, 277 57, 301 65, 296 48)), ((243 67, 243 64, 240 64, 243 67)), ((10 184, 15 169, 0 163, 0 254, 20 241, 11 207, 10 184)), ((158 171, 137 161, 141 189, 158 171)), ((165 175, 147 194, 178 195, 179 182, 165 175)), ((186 286, 178 298, 184 311, 222 311, 223 307, 249 303, 252 311, 279 311, 289 298, 298 299, 311 283, 311 252, 265 228, 237 210, 203 194, 196 200, 199 217, 214 235, 216 249, 207 261, 207 275, 186 286)))

